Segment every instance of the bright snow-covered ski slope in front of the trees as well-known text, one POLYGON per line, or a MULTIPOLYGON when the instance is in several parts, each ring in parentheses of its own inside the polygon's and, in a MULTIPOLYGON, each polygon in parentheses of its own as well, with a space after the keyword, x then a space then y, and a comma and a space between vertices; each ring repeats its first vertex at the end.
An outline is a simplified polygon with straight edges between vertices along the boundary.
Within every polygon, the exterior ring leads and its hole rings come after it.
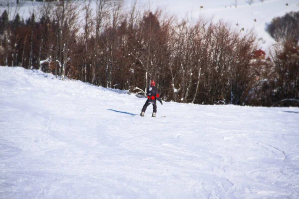
POLYGON ((299 107, 145 101, 0 67, 0 199, 299 198, 299 107))

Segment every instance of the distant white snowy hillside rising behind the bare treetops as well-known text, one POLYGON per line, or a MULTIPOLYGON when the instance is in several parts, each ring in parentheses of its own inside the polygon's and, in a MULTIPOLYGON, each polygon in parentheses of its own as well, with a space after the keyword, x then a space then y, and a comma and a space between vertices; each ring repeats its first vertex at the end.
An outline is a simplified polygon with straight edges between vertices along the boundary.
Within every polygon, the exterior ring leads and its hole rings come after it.
MULTIPOLYGON (((14 2, 14 0, 11 0, 14 2)), ((237 31, 244 28, 244 33, 253 30, 259 39, 259 47, 265 51, 275 43, 273 38, 265 31, 266 23, 274 17, 283 16, 290 11, 299 10, 298 0, 137 0, 137 5, 151 10, 163 8, 168 14, 174 14, 178 19, 189 17, 192 21, 200 16, 213 18, 215 22, 223 20, 228 22, 237 31), (235 2, 237 1, 237 7, 235 2), (202 8, 201 8, 202 7, 202 8), (238 25, 236 25, 238 24, 238 25)), ((125 0, 129 9, 135 0, 125 0)), ((25 1, 20 9, 20 15, 25 19, 41 2, 25 1)), ((95 7, 95 6, 94 6, 95 7)), ((2 10, 3 8, 0 8, 2 10)))

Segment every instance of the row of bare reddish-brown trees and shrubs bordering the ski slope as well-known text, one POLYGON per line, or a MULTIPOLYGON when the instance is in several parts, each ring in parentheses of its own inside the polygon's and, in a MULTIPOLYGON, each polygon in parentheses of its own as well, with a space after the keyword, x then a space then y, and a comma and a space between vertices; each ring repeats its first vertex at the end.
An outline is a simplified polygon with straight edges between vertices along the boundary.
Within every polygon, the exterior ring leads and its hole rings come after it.
POLYGON ((178 20, 136 2, 129 10, 123 0, 43 2, 25 20, 9 19, 4 10, 0 65, 141 96, 154 79, 166 101, 299 105, 295 38, 278 42, 267 57, 255 56, 252 32, 211 19, 178 20))

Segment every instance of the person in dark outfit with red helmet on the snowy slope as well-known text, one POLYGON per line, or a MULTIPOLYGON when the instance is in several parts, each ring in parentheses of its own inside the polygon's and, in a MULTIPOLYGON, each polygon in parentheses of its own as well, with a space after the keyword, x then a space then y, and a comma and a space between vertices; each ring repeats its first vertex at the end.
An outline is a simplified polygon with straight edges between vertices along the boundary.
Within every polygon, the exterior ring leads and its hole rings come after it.
POLYGON ((156 100, 158 100, 161 105, 163 105, 162 100, 160 99, 160 95, 157 91, 157 89, 154 87, 155 86, 155 82, 154 80, 150 81, 150 87, 147 89, 147 97, 148 100, 146 101, 145 105, 143 106, 140 116, 144 117, 145 116, 145 112, 147 110, 147 107, 149 106, 149 104, 152 104, 152 117, 155 117, 156 112, 157 112, 157 104, 156 104, 156 100))

